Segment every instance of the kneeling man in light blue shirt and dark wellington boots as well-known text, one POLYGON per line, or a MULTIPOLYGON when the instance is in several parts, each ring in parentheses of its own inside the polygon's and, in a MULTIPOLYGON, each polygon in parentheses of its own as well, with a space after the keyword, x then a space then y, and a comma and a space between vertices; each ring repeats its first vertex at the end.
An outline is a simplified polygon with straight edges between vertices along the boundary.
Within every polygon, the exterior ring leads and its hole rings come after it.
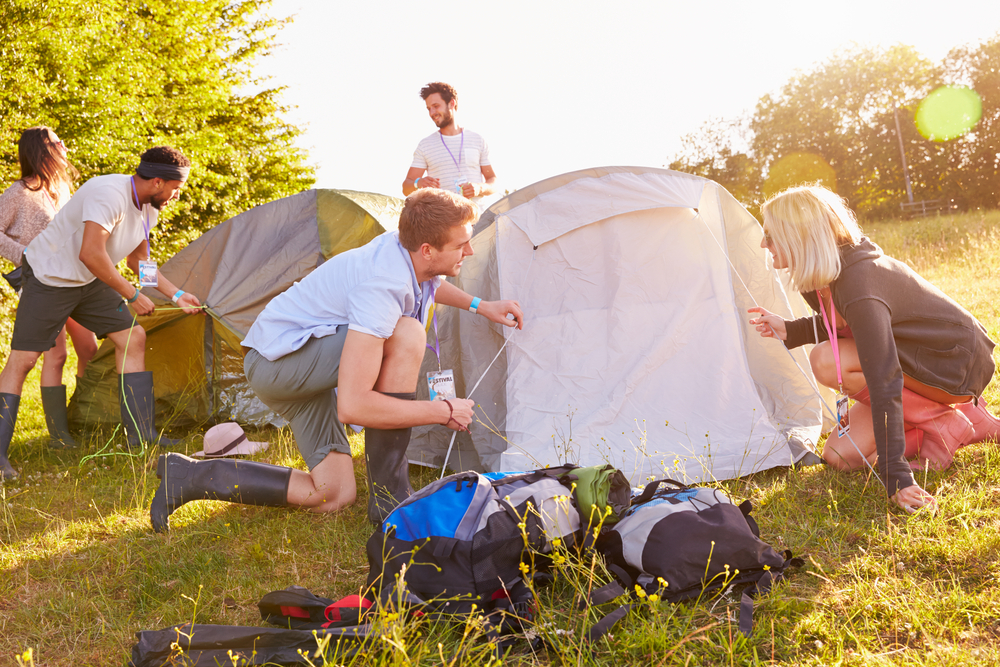
POLYGON ((365 427, 369 520, 381 522, 413 493, 410 428, 461 431, 473 418, 470 400, 415 400, 433 304, 524 325, 516 301, 480 301, 442 280, 457 276, 472 254, 477 215, 475 204, 454 193, 418 190, 406 199, 398 232, 331 258, 275 297, 243 341, 244 370, 257 396, 288 420, 309 472, 164 454, 153 528, 166 530, 171 512, 206 498, 314 512, 352 504, 357 490, 345 423, 365 427))

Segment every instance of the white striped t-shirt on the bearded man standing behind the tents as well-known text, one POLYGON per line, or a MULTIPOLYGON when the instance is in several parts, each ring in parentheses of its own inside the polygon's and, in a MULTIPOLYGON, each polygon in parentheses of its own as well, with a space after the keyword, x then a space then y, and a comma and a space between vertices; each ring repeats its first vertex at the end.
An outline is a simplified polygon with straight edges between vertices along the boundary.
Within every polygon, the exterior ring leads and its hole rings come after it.
MULTIPOLYGON (((490 164, 490 147, 482 136, 471 130, 445 136, 435 132, 425 137, 413 151, 411 167, 426 169, 427 175, 436 178, 444 190, 461 193, 462 183, 482 183, 482 167, 490 164), (464 141, 463 141, 464 136, 464 141), (449 151, 451 151, 449 153, 449 151)), ((478 201, 482 197, 473 197, 478 201)))

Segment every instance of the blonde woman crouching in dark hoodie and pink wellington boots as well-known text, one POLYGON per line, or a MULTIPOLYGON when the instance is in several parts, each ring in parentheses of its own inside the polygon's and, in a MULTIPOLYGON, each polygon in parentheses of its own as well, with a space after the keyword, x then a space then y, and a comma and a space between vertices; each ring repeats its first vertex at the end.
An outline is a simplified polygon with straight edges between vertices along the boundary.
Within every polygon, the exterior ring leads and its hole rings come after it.
POLYGON ((817 315, 786 321, 751 308, 758 317, 750 323, 789 349, 818 343, 816 379, 856 401, 824 460, 840 470, 877 462, 896 504, 935 507, 912 470, 945 468, 959 447, 1000 434, 981 398, 995 369, 993 341, 968 311, 865 238, 830 190, 791 188, 762 211, 761 247, 817 315))

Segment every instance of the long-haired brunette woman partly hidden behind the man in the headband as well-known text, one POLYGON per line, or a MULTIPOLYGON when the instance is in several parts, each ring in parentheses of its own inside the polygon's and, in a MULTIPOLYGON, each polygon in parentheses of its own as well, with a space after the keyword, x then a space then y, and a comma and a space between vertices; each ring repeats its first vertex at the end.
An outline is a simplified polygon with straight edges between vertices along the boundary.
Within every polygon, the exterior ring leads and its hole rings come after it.
MULTIPOLYGON (((69 200, 79 172, 66 159, 66 145, 48 127, 29 127, 18 141, 21 178, 0 195, 0 256, 15 268, 4 277, 20 289, 21 257, 24 248, 52 221, 69 200)), ((77 355, 77 377, 97 352, 97 338, 72 319, 45 353, 42 363, 41 393, 45 422, 53 447, 75 447, 66 419, 66 386, 62 383, 66 363, 66 333, 73 339, 77 355)))

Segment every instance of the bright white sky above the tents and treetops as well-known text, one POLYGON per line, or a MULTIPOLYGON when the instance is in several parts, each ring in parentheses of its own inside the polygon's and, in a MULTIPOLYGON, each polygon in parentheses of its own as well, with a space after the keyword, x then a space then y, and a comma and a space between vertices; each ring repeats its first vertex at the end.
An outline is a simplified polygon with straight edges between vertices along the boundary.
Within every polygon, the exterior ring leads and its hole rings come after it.
POLYGON ((287 86, 317 187, 402 196, 435 131, 429 81, 490 145, 502 188, 576 169, 665 166, 680 138, 752 109, 853 42, 939 61, 1000 31, 996 0, 482 3, 274 0, 295 15, 259 73, 287 86))

